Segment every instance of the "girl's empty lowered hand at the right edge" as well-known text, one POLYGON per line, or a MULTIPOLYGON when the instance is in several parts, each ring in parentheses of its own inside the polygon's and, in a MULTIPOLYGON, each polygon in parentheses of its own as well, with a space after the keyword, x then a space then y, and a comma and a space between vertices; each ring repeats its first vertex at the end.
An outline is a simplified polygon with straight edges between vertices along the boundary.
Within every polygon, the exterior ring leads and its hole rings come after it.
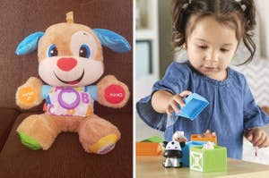
POLYGON ((247 140, 249 140, 254 147, 265 148, 269 146, 269 139, 264 130, 260 128, 253 128, 247 131, 245 134, 247 140))

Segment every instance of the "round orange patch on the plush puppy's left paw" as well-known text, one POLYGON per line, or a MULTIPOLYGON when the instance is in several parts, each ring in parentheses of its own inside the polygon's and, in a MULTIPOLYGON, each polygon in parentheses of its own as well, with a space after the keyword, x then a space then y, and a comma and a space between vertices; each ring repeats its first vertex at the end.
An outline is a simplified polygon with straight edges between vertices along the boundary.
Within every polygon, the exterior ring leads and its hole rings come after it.
POLYGON ((23 88, 19 91, 19 99, 24 104, 32 104, 37 98, 36 91, 31 87, 23 88))

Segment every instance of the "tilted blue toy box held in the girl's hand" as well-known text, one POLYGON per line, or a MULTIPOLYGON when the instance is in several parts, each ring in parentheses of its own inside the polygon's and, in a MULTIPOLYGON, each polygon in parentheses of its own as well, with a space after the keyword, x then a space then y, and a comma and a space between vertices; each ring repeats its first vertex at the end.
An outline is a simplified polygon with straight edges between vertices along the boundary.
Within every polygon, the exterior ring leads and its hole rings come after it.
POLYGON ((209 102, 204 97, 197 93, 189 95, 184 101, 186 106, 181 108, 179 106, 180 112, 174 112, 174 114, 186 117, 191 121, 195 120, 197 115, 200 114, 209 104, 209 102))

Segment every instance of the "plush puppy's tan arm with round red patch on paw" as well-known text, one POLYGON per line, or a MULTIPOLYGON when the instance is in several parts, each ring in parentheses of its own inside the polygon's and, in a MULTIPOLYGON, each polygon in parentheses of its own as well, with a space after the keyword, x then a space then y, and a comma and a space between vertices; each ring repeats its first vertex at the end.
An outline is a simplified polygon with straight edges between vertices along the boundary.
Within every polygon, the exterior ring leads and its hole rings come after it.
POLYGON ((103 106, 119 108, 125 106, 130 97, 126 84, 113 75, 105 76, 97 84, 97 100, 103 106))

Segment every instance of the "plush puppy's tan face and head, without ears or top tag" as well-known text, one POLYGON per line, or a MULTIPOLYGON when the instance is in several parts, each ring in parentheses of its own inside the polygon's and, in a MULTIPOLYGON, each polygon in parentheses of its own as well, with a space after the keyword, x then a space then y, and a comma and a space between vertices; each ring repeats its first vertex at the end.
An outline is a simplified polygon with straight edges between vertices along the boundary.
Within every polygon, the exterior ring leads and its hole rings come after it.
POLYGON ((50 26, 39 40, 39 76, 52 86, 85 86, 104 72, 102 47, 80 24, 50 26))

